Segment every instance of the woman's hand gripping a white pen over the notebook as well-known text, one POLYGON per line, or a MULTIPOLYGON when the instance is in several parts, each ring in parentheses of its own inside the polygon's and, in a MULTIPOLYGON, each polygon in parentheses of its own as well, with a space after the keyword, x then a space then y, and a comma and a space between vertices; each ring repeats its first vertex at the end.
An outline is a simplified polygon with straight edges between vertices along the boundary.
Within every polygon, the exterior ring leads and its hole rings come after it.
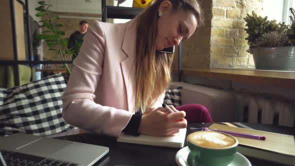
POLYGON ((138 132, 151 136, 173 135, 186 127, 184 116, 184 111, 168 113, 163 107, 158 107, 141 116, 138 132))

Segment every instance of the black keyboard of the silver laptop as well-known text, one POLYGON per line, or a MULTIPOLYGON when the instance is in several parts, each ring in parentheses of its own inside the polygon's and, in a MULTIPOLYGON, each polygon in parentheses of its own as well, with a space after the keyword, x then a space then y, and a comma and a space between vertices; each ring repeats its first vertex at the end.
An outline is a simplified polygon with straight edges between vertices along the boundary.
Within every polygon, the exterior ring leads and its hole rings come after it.
POLYGON ((77 166, 76 163, 45 158, 20 152, 0 150, 7 166, 77 166))

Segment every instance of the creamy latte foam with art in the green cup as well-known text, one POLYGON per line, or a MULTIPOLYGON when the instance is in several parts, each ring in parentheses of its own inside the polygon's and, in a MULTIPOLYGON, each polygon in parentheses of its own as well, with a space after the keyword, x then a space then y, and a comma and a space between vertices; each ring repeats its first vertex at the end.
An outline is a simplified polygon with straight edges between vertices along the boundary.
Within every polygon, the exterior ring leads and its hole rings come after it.
POLYGON ((188 138, 195 144, 206 147, 227 147, 235 143, 235 139, 215 131, 197 131, 188 138))

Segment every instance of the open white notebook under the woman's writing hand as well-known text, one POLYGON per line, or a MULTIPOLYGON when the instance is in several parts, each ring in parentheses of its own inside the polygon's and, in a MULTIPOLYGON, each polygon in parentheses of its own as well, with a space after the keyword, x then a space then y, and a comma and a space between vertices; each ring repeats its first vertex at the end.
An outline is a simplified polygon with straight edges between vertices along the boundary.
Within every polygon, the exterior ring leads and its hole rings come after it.
POLYGON ((186 136, 186 128, 182 128, 173 136, 148 136, 140 134, 139 136, 132 136, 122 133, 118 138, 118 142, 137 143, 154 146, 167 147, 183 147, 186 136))

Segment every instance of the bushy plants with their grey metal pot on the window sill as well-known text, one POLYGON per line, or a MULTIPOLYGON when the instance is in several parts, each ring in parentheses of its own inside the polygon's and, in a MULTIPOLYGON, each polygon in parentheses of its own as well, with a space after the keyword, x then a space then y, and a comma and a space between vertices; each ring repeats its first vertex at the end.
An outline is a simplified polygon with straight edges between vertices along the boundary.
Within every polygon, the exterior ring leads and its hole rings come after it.
POLYGON ((256 69, 295 69, 295 23, 294 10, 291 10, 291 24, 288 26, 267 20, 267 16, 247 14, 245 28, 249 52, 253 54, 256 69))

